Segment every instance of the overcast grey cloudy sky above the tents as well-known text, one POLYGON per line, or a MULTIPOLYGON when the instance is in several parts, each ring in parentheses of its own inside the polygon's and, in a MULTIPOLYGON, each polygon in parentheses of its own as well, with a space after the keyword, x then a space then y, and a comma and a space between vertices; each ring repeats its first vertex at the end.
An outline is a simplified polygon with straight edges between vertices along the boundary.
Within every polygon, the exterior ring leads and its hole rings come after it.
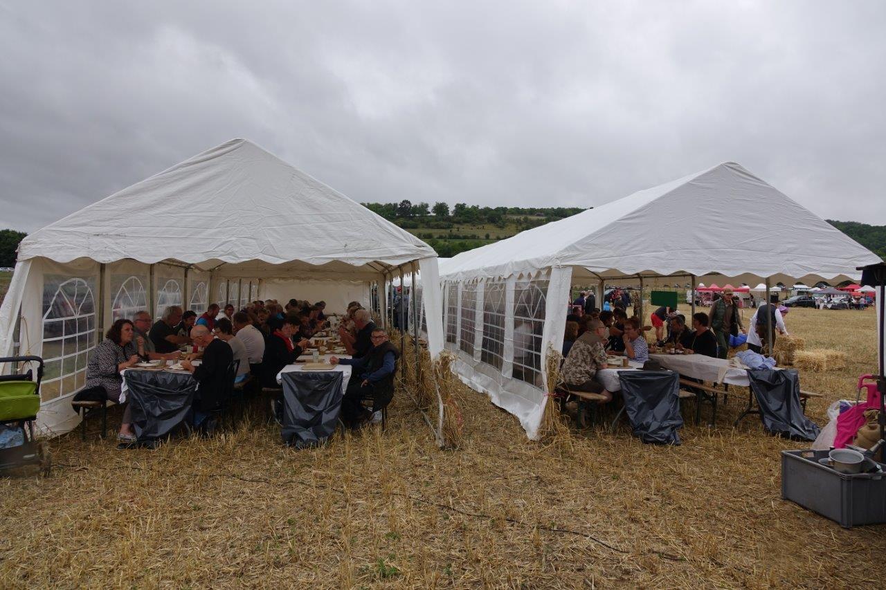
POLYGON ((732 160, 886 224, 884 25, 880 0, 0 0, 0 228, 232 137, 363 202, 596 206, 732 160))

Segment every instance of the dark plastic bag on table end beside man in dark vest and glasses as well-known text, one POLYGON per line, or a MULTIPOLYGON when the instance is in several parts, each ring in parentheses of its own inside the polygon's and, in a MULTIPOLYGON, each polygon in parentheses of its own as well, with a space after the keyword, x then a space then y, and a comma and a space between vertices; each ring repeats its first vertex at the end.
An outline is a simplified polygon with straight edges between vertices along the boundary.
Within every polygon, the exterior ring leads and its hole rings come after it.
POLYGON ((283 374, 281 434, 285 445, 306 448, 323 444, 335 433, 341 410, 342 374, 283 374))

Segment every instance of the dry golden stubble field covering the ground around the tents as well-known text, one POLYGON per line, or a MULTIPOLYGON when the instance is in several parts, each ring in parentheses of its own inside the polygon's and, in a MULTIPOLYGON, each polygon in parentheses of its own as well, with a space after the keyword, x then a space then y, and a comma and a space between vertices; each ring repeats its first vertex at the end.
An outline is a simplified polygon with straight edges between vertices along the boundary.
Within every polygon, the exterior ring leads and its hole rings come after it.
MULTIPOLYGON (((786 318, 807 347, 846 353, 844 369, 801 377, 826 396, 810 402, 820 425, 874 371, 874 317, 786 318)), ((51 443, 51 477, 0 479, 0 586, 879 585, 886 526, 847 531, 781 501, 779 451, 797 443, 757 416, 733 429, 746 395, 735 389, 716 429, 687 423, 679 447, 624 425, 532 443, 467 389, 456 451, 402 394, 385 432, 311 451, 284 448, 263 405, 155 451, 72 433, 51 443)))

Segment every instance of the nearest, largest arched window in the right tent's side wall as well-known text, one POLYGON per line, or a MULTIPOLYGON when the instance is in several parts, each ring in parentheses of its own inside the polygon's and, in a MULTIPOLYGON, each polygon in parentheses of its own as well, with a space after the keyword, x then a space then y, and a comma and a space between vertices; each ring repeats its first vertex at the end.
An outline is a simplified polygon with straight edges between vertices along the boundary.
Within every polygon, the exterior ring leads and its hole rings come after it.
POLYGON ((541 387, 541 333, 548 280, 520 279, 514 285, 514 369, 512 376, 541 387))

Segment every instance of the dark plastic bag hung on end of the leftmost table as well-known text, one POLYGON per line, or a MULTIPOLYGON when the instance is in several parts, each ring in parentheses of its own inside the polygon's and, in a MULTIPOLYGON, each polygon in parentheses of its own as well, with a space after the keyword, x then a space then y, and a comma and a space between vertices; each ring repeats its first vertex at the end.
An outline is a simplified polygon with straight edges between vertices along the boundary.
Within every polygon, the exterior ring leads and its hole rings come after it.
POLYGON ((140 442, 165 437, 183 423, 197 392, 197 381, 190 374, 127 371, 125 379, 129 411, 140 442))

